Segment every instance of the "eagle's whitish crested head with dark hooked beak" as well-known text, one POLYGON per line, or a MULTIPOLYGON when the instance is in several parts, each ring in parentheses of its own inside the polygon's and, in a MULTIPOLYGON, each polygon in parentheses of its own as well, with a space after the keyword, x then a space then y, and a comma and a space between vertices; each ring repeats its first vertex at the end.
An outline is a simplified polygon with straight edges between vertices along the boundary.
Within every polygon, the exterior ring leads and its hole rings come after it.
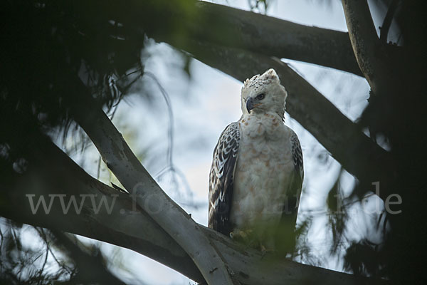
POLYGON ((285 87, 280 85, 278 74, 273 68, 262 75, 246 79, 241 93, 243 115, 249 113, 275 112, 284 118, 286 97, 285 87))

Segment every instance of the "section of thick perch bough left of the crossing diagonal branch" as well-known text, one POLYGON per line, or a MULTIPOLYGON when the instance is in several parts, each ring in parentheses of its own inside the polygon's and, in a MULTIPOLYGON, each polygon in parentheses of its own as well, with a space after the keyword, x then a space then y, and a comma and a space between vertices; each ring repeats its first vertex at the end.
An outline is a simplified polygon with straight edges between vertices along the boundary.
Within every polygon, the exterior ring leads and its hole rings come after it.
POLYGON ((10 184, 7 184, 7 180, 0 182, 1 193, 7 195, 2 199, 9 201, 1 204, 2 217, 132 249, 194 281, 204 282, 199 269, 184 249, 130 195, 88 175, 48 138, 34 138, 30 147, 31 157, 26 157, 30 167, 26 174, 10 184), (47 204, 53 199, 51 211, 45 214, 40 206, 38 211, 33 212, 30 197, 26 195, 33 195, 33 205, 41 197, 47 204), (83 204, 81 212, 70 206, 65 214, 60 205, 60 195, 63 195, 65 205, 68 205, 71 197, 76 199, 78 206, 83 204), (106 202, 100 207, 98 205, 102 199, 106 202), (107 206, 111 207, 110 212, 106 210, 107 206), (95 212, 95 207, 100 207, 100 211, 95 212))

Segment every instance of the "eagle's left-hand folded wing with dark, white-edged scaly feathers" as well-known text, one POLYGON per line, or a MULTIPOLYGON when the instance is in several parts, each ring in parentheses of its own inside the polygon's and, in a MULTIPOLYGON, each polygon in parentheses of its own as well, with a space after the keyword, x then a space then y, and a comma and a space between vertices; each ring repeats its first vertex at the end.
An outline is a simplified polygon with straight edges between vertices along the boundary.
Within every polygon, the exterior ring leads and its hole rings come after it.
POLYGON ((216 144, 209 177, 209 227, 226 235, 232 230, 229 219, 239 141, 238 122, 231 123, 216 144))

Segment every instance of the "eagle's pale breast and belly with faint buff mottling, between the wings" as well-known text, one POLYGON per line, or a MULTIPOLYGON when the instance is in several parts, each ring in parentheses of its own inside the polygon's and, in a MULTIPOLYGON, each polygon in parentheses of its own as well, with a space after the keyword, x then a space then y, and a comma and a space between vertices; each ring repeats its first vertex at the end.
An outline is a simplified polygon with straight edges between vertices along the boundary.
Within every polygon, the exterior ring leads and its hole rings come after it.
POLYGON ((240 229, 278 224, 294 171, 291 131, 275 113, 246 115, 239 124, 231 222, 240 229))

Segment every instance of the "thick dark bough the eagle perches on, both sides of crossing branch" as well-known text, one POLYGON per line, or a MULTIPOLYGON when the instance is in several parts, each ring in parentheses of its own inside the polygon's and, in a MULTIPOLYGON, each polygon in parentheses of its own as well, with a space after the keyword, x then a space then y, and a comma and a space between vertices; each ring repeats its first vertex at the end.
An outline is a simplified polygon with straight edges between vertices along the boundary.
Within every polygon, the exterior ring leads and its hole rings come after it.
MULTIPOLYGON (((9 204, 0 208, 3 217, 19 222, 51 227, 84 237, 98 239, 120 247, 132 249, 165 264, 195 281, 203 281, 199 269, 172 237, 164 232, 154 220, 138 207, 129 195, 103 185, 78 167, 69 157, 50 142, 34 149, 36 155, 30 161, 31 169, 21 177, 19 184, 2 185, 8 188, 9 204), (105 197, 112 205, 111 212, 100 207, 93 211, 90 199, 83 203, 83 210, 75 214, 71 207, 63 213, 58 197, 49 214, 41 209, 32 213, 26 195, 66 195, 65 204, 71 195, 96 195, 96 204, 105 197), (114 198, 116 196, 116 198, 114 198), (115 199, 114 204, 112 201, 115 199), (19 211, 17 211, 19 209, 19 211), (67 222, 64 222, 67 221, 67 222)), ((262 257, 259 252, 244 249, 218 232, 198 225, 226 260, 236 279, 241 284, 383 284, 382 281, 366 279, 337 271, 298 264, 288 260, 262 257)))

